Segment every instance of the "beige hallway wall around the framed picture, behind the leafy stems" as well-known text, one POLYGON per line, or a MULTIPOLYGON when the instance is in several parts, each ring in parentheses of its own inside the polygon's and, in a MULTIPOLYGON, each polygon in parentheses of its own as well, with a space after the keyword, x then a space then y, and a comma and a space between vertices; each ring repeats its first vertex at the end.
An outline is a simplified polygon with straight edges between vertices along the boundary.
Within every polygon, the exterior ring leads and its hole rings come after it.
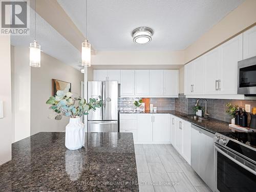
POLYGON ((60 121, 49 119, 51 113, 47 99, 52 94, 52 79, 71 82, 71 91, 81 96, 83 74, 61 61, 41 53, 41 67, 31 68, 31 135, 38 132, 65 131, 69 118, 60 121))

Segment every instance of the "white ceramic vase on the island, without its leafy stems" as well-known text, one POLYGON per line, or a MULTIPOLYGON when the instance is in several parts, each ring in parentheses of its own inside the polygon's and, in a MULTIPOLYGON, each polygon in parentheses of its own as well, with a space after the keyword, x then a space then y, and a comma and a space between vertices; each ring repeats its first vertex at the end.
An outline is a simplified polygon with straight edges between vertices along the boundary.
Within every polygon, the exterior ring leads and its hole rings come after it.
POLYGON ((69 150, 78 150, 84 146, 84 124, 80 117, 70 118, 66 126, 65 146, 69 150))

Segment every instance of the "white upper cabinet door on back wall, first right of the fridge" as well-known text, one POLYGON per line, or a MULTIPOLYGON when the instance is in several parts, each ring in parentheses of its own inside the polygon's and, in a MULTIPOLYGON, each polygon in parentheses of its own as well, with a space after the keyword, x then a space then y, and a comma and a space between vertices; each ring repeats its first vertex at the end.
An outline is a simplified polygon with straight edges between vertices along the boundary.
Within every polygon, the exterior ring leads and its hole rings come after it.
POLYGON ((135 71, 121 70, 121 97, 135 95, 135 71))

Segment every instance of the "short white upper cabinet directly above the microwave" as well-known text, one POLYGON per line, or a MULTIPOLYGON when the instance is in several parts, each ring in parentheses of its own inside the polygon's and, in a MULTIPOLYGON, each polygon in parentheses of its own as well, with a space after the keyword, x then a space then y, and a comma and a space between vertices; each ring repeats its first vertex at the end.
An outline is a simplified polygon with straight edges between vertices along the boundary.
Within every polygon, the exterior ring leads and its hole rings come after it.
POLYGON ((243 59, 256 56, 256 26, 243 33, 243 59))

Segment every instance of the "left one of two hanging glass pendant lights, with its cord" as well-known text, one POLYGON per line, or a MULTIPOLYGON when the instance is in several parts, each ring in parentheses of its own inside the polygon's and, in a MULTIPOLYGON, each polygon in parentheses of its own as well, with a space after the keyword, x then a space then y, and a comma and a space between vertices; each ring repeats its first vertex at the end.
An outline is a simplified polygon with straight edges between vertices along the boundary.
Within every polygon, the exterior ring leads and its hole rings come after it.
POLYGON ((41 65, 41 46, 36 41, 36 0, 35 0, 35 40, 29 44, 29 65, 40 67, 41 65))

